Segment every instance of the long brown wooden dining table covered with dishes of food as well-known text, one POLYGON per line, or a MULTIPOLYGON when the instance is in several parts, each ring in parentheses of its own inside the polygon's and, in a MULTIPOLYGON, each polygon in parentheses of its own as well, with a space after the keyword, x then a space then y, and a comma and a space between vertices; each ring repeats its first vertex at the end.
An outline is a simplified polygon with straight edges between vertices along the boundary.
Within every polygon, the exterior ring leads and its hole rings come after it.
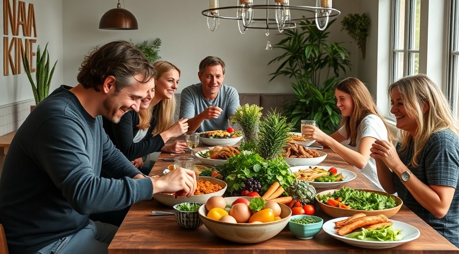
MULTIPOLYGON (((195 151, 204 149, 198 147, 195 151)), ((330 149, 324 149, 326 159, 320 165, 336 166, 357 174, 357 178, 343 184, 355 189, 377 189, 358 170, 344 161, 330 149)), ((173 162, 164 161, 173 158, 169 153, 161 153, 150 173, 161 175, 163 170, 173 162)), ((196 159, 196 164, 199 161, 196 159)), ((324 221, 332 219, 319 206, 316 215, 324 221)), ((294 237, 286 226, 275 237, 256 244, 239 244, 221 239, 209 231, 204 225, 194 230, 179 227, 174 216, 152 216, 152 210, 172 211, 158 201, 143 201, 133 204, 126 218, 119 227, 111 242, 108 253, 459 253, 459 249, 446 240, 442 235, 416 216, 405 205, 391 217, 393 220, 408 223, 421 231, 421 236, 411 242, 388 249, 367 249, 355 247, 329 236, 321 230, 310 240, 300 240, 294 237)))

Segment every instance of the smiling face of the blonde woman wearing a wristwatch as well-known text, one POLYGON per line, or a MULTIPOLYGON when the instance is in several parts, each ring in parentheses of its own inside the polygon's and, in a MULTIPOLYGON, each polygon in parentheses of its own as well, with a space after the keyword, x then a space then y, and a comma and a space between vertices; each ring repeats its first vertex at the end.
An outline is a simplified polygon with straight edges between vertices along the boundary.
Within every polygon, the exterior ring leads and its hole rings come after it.
POLYGON ((412 118, 406 112, 405 104, 403 103, 399 89, 393 88, 390 91, 390 104, 392 105, 390 113, 392 113, 397 120, 397 128, 407 131, 414 136, 416 130, 418 130, 418 123, 415 118, 412 118))

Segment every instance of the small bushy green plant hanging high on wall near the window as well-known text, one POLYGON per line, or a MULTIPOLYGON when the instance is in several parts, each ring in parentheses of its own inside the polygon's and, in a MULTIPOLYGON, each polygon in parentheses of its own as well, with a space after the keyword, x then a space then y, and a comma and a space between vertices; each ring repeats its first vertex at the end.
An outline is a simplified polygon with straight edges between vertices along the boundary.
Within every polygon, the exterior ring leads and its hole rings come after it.
POLYGON ((347 34, 357 42, 362 51, 362 59, 365 59, 365 48, 368 37, 368 27, 370 26, 370 18, 367 14, 348 14, 341 21, 343 28, 347 34))

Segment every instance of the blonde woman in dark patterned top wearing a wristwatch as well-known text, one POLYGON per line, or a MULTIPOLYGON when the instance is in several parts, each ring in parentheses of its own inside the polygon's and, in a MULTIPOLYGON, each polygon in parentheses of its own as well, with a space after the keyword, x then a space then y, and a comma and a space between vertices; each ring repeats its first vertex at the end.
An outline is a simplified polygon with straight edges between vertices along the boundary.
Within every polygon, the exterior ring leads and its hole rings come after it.
POLYGON ((388 193, 459 247, 459 129, 450 105, 426 75, 389 86, 400 138, 375 141, 371 157, 388 193))

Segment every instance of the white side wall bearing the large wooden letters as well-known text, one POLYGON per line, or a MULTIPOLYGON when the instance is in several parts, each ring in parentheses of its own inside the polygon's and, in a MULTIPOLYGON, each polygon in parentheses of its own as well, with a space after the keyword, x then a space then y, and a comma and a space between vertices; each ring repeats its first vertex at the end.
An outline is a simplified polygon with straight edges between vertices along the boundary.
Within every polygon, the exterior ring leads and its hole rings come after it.
MULTIPOLYGON (((8 0, 12 4, 12 0, 8 0)), ((36 52, 36 46, 40 45, 40 48, 44 48, 46 43, 48 44, 48 51, 50 60, 54 63, 57 61, 54 76, 51 82, 51 91, 54 90, 62 83, 62 1, 60 0, 25 0, 26 9, 28 4, 33 4, 35 11, 35 20, 37 25, 37 37, 34 52, 36 52)), ((0 3, 3 11, 3 1, 0 3)), ((3 14, 3 12, 2 12, 3 14)), ((2 15, 3 17, 3 15, 2 15)), ((9 41, 13 37, 11 30, 9 35, 3 35, 3 18, 0 20, 0 27, 2 28, 2 59, 3 59, 3 38, 9 37, 9 41)), ((26 37, 23 36, 22 29, 20 29, 19 36, 22 37, 23 41, 26 37)), ((27 37, 30 38, 30 37, 27 37)), ((35 59, 35 58, 34 58, 35 59)), ((35 65, 34 65, 35 66, 35 65)), ((3 73, 3 60, 0 62, 0 68, 3 73)), ((24 69, 22 73, 18 75, 12 75, 10 70, 9 76, 0 76, 0 105, 14 103, 18 101, 27 100, 33 98, 32 88, 30 86, 29 79, 27 78, 24 69)))

